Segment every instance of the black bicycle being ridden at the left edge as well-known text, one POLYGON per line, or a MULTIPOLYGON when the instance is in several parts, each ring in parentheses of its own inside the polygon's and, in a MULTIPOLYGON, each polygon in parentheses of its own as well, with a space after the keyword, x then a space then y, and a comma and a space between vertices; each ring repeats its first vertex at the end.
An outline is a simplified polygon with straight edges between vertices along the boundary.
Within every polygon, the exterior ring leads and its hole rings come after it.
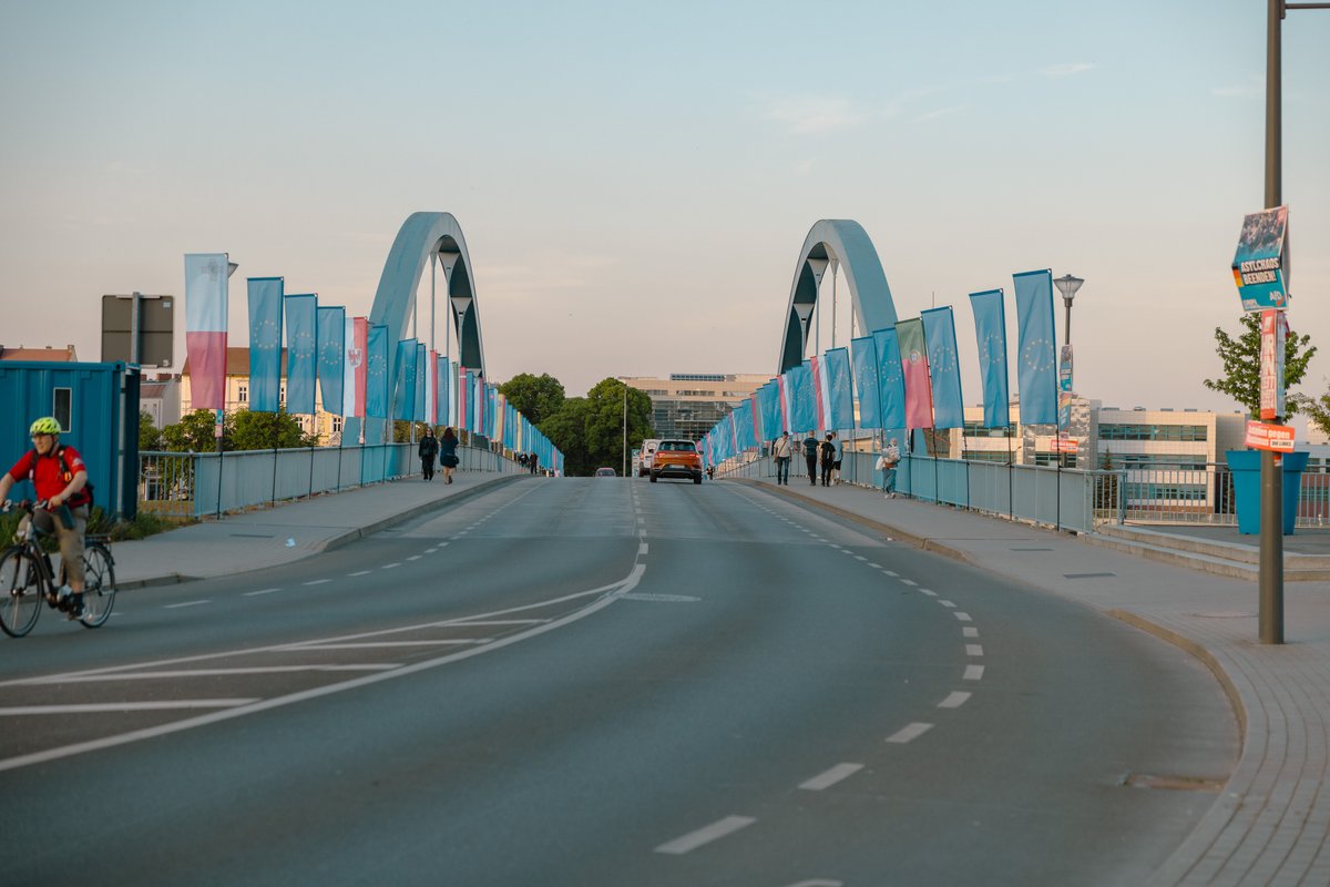
MULTIPOLYGON (((4 503, 0 512, 9 512, 13 503, 4 503)), ((17 503, 17 508, 28 512, 28 525, 17 544, 0 555, 0 629, 9 637, 23 637, 37 624, 41 604, 64 613, 69 612, 70 598, 60 597, 65 584, 64 565, 59 580, 51 563, 51 556, 41 551, 37 543, 37 528, 33 513, 45 508, 45 503, 17 503)), ((110 556, 106 536, 84 537, 84 612, 78 617, 84 628, 98 628, 110 618, 110 608, 116 604, 116 561, 110 556)))

